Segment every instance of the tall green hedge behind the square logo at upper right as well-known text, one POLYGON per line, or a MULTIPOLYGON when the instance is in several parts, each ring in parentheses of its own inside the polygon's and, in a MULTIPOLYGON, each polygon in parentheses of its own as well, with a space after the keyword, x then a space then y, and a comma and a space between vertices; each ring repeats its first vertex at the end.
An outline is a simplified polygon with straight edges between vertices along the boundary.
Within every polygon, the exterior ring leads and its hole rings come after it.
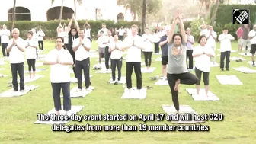
MULTIPOLYGON (((213 15, 213 7, 215 5, 211 7, 210 18, 213 15)), ((225 24, 232 23, 233 9, 249 9, 250 21, 252 24, 256 23, 256 5, 219 5, 215 20, 216 24, 224 26, 225 24)))

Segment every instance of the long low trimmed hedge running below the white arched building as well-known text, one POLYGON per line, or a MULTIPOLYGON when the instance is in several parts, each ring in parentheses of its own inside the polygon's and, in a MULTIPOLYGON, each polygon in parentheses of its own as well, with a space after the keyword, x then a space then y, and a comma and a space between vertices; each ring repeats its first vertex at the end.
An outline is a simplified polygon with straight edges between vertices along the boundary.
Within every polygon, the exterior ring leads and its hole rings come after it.
MULTIPOLYGON (((69 24, 70 20, 62 20, 62 24, 65 23, 66 26, 69 24)), ((130 27, 133 24, 137 24, 140 27, 140 23, 137 21, 118 21, 115 23, 114 21, 88 21, 88 23, 91 25, 91 37, 95 38, 97 37, 98 30, 101 29, 101 24, 105 23, 107 25, 107 28, 120 28, 123 27, 130 27)), ((0 25, 5 24, 8 29, 11 27, 11 21, 0 21, 0 25)), ((80 27, 83 27, 85 24, 85 20, 78 20, 78 24, 80 27)), ((14 27, 17 27, 20 30, 20 36, 27 39, 27 31, 31 30, 32 28, 35 28, 38 30, 39 28, 42 28, 44 33, 46 34, 45 39, 51 40, 57 36, 56 34, 56 28, 59 25, 59 21, 15 21, 14 27)), ((74 23, 73 25, 74 26, 74 23)))

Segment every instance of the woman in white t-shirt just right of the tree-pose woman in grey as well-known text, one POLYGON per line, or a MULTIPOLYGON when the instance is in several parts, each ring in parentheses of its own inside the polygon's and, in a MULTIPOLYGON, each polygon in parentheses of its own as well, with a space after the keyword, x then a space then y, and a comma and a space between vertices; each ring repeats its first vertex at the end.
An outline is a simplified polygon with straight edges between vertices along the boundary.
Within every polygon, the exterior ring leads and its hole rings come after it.
POLYGON ((210 74, 210 58, 215 56, 213 49, 210 46, 206 46, 207 37, 205 35, 200 36, 198 43, 200 46, 196 46, 193 50, 193 57, 195 59, 195 73, 199 81, 196 84, 197 96, 200 95, 200 82, 203 73, 203 83, 205 87, 206 97, 208 97, 209 91, 209 74, 210 74))

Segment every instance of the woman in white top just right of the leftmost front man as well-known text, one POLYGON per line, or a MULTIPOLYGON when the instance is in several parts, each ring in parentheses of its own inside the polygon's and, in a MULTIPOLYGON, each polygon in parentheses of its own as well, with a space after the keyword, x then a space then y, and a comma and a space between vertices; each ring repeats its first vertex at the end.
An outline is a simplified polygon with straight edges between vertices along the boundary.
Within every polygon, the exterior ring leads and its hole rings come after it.
POLYGON ((36 59, 37 59, 37 41, 32 38, 33 32, 29 31, 27 33, 27 40, 26 40, 26 58, 27 58, 27 65, 28 65, 28 71, 30 73, 30 78, 32 78, 32 72, 33 69, 33 78, 36 75, 36 59))

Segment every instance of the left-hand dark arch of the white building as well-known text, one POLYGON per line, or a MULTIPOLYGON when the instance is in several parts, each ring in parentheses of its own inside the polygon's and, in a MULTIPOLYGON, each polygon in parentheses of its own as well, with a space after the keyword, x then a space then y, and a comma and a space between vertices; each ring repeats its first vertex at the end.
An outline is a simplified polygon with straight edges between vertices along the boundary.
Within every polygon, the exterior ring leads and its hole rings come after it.
MULTIPOLYGON (((13 8, 8 11, 8 21, 12 21, 13 8)), ((31 12, 29 9, 24 7, 16 7, 15 21, 31 21, 31 12)))

